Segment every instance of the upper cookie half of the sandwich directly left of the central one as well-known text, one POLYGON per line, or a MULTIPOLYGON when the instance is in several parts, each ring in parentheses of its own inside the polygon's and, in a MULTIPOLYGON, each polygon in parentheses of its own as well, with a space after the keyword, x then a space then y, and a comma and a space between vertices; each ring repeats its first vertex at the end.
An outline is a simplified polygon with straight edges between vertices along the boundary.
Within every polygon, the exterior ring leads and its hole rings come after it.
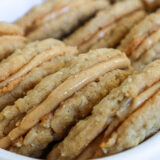
POLYGON ((40 52, 52 48, 53 45, 63 44, 57 40, 47 39, 41 42, 36 41, 27 44, 23 49, 16 50, 11 56, 0 63, 0 81, 7 79, 31 61, 33 57, 38 55, 40 52))

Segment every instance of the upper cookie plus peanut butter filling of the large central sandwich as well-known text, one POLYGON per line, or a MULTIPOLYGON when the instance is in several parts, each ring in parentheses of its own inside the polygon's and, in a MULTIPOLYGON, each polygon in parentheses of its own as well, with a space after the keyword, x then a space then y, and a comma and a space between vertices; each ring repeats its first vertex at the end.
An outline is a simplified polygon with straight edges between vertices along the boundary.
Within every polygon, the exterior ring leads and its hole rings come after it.
MULTIPOLYGON (((130 66, 124 53, 113 49, 99 49, 73 58, 73 62, 55 74, 41 80, 27 95, 15 102, 9 116, 2 113, 2 125, 14 117, 24 117, 0 140, 0 146, 7 148, 11 143, 35 126, 43 116, 57 109, 58 105, 87 84, 105 73, 130 66), (45 89, 44 89, 45 88, 45 89), (5 118, 4 118, 5 117, 5 118)), ((9 109, 9 110, 10 110, 9 109)))

